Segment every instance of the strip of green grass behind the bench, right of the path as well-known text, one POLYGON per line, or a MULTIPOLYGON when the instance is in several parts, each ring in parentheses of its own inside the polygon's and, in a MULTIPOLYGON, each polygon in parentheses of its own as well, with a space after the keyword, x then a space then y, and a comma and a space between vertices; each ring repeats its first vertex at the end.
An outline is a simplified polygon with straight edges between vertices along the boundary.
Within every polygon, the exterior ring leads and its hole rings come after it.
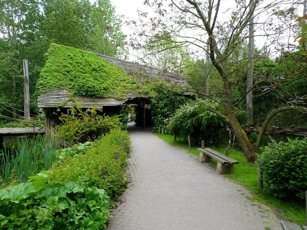
MULTIPOLYGON (((183 142, 182 140, 173 142, 173 136, 171 135, 164 134, 161 136, 161 134, 157 133, 154 135, 175 147, 183 148, 194 155, 199 155, 199 151, 197 151, 196 148, 201 147, 200 143, 198 146, 188 148, 187 142, 183 142)), ((225 148, 215 148, 215 151, 225 154, 225 148)), ((229 157, 239 161, 239 164, 235 164, 234 172, 226 174, 225 177, 231 178, 235 182, 245 186, 251 193, 251 201, 257 201, 273 206, 281 218, 302 226, 306 225, 305 199, 294 201, 280 200, 265 191, 258 189, 258 165, 247 163, 246 158, 243 156, 243 152, 239 150, 229 150, 229 157)), ((214 160, 214 162, 217 164, 216 160, 214 160)), ((265 187, 266 185, 264 184, 263 186, 265 187)))

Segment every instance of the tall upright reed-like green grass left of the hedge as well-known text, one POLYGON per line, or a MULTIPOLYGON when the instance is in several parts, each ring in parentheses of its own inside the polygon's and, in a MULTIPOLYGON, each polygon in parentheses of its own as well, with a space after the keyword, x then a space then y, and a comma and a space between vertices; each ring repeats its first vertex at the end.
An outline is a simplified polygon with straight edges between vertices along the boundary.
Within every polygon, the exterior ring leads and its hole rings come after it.
POLYGON ((49 170, 53 162, 58 160, 56 152, 58 144, 54 138, 38 135, 34 139, 23 138, 11 150, 6 148, 0 152, 0 182, 18 182, 28 180, 42 170, 49 170), (2 155, 2 156, 1 156, 2 155))

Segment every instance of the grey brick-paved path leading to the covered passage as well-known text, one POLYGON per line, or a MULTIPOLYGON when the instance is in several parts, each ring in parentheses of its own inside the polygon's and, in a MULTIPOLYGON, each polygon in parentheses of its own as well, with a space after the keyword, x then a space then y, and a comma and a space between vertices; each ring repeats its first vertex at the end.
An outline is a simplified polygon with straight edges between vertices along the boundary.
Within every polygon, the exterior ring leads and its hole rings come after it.
POLYGON ((108 230, 280 230, 280 221, 248 191, 186 151, 130 127, 131 183, 108 230), (260 207, 260 208, 259 208, 260 207))

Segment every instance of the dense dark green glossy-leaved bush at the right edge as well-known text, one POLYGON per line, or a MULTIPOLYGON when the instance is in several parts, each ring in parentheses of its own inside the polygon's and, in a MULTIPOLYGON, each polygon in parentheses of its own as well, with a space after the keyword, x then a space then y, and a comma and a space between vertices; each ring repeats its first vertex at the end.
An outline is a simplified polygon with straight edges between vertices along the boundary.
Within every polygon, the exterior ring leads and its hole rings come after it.
POLYGON ((267 192, 275 197, 304 197, 307 188, 307 137, 274 142, 258 155, 267 192), (299 191, 301 190, 301 191, 299 191))

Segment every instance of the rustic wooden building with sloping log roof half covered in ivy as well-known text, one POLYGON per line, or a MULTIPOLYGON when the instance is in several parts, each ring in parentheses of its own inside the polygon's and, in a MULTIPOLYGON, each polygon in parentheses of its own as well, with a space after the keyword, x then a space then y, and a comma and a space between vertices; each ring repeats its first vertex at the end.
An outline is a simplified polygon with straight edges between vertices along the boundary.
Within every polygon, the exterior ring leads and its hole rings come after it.
MULTIPOLYGON (((43 109, 47 112, 46 127, 50 130, 55 126, 50 114, 65 113, 76 105, 83 109, 96 106, 107 113, 111 106, 139 104, 145 113, 150 97, 146 86, 150 82, 166 82, 181 88, 188 86, 185 75, 50 44, 37 82, 38 107, 40 112, 43 109)), ((184 91, 183 96, 193 94, 184 91)))

